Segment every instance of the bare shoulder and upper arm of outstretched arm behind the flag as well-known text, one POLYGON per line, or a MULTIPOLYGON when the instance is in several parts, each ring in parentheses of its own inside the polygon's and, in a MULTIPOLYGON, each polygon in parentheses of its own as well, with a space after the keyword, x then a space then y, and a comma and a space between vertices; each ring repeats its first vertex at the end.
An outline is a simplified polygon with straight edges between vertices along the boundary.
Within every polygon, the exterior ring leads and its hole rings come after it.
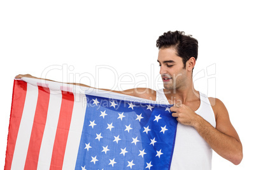
POLYGON ((134 88, 134 89, 127 89, 124 91, 120 91, 120 93, 124 95, 135 96, 138 98, 145 98, 147 100, 154 100, 156 99, 156 91, 150 88, 134 88))

